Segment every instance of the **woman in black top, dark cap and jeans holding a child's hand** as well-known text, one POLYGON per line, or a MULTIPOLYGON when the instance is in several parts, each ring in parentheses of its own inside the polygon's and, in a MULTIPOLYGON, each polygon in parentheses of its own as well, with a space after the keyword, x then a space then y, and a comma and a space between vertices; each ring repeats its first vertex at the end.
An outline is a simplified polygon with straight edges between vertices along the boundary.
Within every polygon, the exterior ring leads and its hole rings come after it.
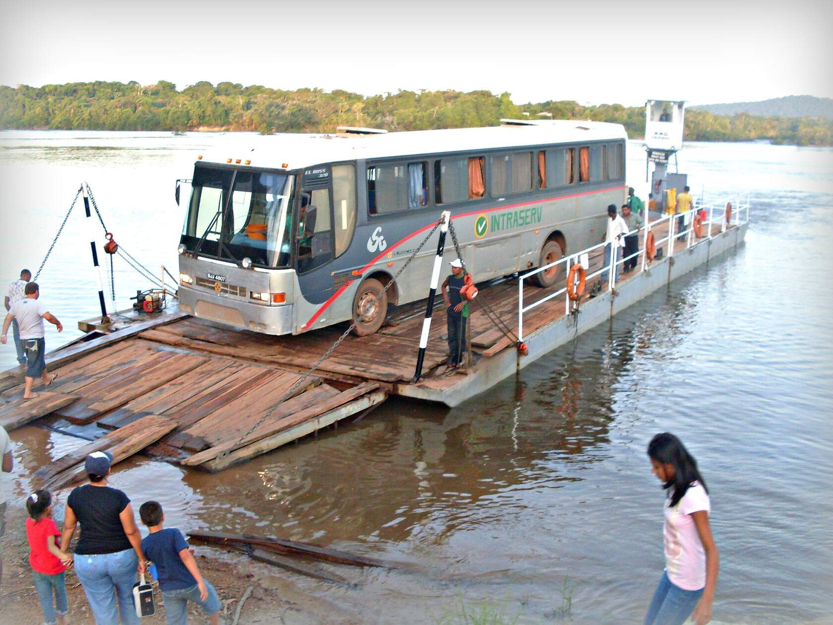
POLYGON ((95 452, 84 463, 90 482, 72 489, 67 498, 61 549, 66 552, 77 523, 81 538, 72 561, 97 625, 138 625, 133 607, 136 572, 144 572, 141 536, 130 499, 107 486, 112 456, 95 452), (118 596, 118 609, 116 608, 118 596))

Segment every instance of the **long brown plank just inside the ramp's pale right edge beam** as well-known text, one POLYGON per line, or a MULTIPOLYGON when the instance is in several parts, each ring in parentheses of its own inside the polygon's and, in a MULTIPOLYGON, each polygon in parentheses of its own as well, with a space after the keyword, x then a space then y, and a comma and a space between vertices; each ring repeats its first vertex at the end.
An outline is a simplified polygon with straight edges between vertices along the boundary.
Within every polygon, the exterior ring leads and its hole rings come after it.
MULTIPOLYGON (((323 386, 327 385, 325 384, 323 386)), ((217 458, 217 456, 222 453, 232 452, 237 448, 243 447, 244 445, 255 443, 261 438, 266 438, 280 433, 287 428, 292 428, 292 426, 306 421, 307 419, 326 413, 328 410, 337 408, 352 399, 356 399, 366 393, 370 393, 372 390, 376 389, 377 386, 378 385, 375 383, 359 384, 355 388, 351 388, 350 390, 338 393, 335 396, 325 398, 320 402, 314 403, 308 408, 302 408, 301 410, 294 409, 292 403, 298 399, 304 398, 304 396, 308 394, 304 393, 299 398, 295 398, 295 400, 284 402, 281 407, 275 411, 275 413, 270 415, 266 421, 258 425, 257 428, 252 433, 249 433, 243 440, 236 439, 227 441, 226 443, 221 443, 215 447, 207 449, 204 452, 195 453, 191 458, 184 461, 183 464, 186 464, 189 467, 194 467, 197 464, 206 462, 207 460, 217 458)), ((310 391, 309 393, 315 393, 315 391, 310 391)))

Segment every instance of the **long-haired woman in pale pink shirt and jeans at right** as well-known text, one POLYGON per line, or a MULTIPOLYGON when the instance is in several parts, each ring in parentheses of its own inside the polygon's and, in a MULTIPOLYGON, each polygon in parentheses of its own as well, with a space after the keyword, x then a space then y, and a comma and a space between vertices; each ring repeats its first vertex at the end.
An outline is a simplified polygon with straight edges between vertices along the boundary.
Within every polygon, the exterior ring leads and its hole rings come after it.
POLYGON ((679 438, 657 434, 648 443, 653 473, 668 489, 663 527, 666 570, 656 588, 645 625, 696 625, 711 621, 715 599, 717 547, 709 526, 709 491, 696 460, 679 438))

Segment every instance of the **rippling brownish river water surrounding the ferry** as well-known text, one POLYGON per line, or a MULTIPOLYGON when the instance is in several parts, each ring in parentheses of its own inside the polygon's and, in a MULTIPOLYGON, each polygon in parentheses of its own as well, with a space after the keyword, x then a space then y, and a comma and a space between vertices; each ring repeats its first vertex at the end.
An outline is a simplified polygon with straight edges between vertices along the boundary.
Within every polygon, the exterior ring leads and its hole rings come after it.
MULTIPOLYGON (((176 273, 174 180, 247 139, 188 133, 0 133, 0 278, 37 270, 86 179, 118 243, 176 273)), ((263 140, 253 138, 253 140, 263 140)), ((272 138, 272 140, 275 140, 272 138)), ((230 153, 229 156, 236 156, 230 153)), ((676 433, 711 489, 721 622, 833 621, 833 150, 691 143, 696 195, 749 189, 736 253, 582 335, 459 408, 390 401, 360 423, 217 475, 134 458, 112 482, 183 530, 262 532, 413 562, 357 588, 299 581, 368 622, 435 622, 487 602, 519 622, 641 622, 662 572, 663 492, 645 454, 676 433)), ((644 153, 628 179, 646 197, 644 153)), ((80 206, 38 282, 77 336, 97 312, 80 206)), ((144 283, 119 260, 118 308, 144 283), (132 292, 132 293, 131 293, 132 292)), ((5 288, 5 287, 4 287, 5 288)), ((11 346, 0 350, 11 366, 11 346)), ((78 441, 13 434, 17 488, 78 441)))

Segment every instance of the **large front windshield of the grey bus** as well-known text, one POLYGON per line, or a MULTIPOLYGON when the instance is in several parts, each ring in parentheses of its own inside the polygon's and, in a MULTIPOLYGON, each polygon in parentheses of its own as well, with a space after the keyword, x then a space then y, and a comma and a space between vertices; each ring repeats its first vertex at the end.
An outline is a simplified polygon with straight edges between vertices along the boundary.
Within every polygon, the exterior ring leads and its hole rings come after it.
POLYGON ((295 177, 198 165, 182 228, 189 252, 288 268, 295 177))

